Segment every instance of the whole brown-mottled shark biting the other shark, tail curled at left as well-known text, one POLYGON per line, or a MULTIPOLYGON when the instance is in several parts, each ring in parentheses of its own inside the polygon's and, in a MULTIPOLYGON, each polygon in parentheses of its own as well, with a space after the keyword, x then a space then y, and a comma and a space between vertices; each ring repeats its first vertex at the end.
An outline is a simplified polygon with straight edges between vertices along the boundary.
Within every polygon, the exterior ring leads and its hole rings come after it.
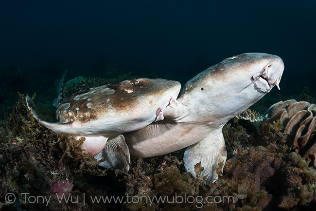
POLYGON ((26 103, 35 119, 56 134, 73 135, 78 140, 85 137, 82 148, 92 156, 106 145, 108 156, 112 153, 118 163, 120 159, 126 163, 126 158, 116 152, 117 146, 127 149, 122 133, 162 120, 164 109, 176 99, 180 88, 177 81, 137 78, 84 89, 60 103, 56 110, 59 122, 55 123, 39 117, 29 96, 26 103))

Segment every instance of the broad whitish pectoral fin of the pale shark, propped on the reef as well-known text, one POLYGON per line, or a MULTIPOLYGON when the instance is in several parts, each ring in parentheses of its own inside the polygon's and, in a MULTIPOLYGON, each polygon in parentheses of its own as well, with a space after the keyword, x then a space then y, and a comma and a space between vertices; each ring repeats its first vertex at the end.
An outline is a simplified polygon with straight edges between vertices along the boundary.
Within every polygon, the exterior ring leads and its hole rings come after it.
POLYGON ((216 169, 220 168, 218 164, 222 163, 222 170, 226 158, 227 153, 222 129, 217 129, 202 141, 188 147, 184 153, 183 161, 185 169, 191 172, 194 177, 196 177, 194 165, 201 161, 201 166, 204 167, 201 177, 209 174, 205 182, 209 185, 217 180, 216 169))

